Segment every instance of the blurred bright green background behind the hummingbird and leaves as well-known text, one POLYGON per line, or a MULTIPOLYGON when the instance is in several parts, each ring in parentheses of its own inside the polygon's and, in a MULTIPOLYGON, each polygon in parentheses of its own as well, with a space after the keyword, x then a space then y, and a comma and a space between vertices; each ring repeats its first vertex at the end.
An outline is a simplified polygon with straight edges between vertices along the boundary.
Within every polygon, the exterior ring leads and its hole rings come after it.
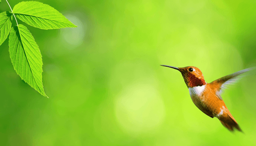
POLYGON ((243 134, 202 113, 181 74, 159 66, 196 66, 209 83, 256 63, 255 0, 39 2, 78 27, 18 20, 41 50, 49 99, 16 74, 8 39, 0 46, 1 145, 256 145, 256 73, 222 94, 243 134))

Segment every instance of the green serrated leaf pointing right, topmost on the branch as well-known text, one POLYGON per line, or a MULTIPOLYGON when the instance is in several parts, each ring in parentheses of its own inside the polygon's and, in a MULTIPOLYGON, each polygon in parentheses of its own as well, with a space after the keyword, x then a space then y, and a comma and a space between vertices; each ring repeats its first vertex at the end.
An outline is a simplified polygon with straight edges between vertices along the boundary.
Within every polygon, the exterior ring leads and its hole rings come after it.
POLYGON ((65 16, 40 2, 21 2, 14 6, 13 13, 23 22, 41 29, 75 28, 65 16))

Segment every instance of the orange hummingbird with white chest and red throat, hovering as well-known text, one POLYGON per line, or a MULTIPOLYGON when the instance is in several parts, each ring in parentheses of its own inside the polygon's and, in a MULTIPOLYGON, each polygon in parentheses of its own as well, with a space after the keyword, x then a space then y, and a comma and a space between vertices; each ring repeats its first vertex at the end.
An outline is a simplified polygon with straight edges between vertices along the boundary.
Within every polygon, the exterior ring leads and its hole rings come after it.
POLYGON ((161 66, 166 66, 180 71, 188 87, 193 103, 203 113, 211 118, 217 117, 222 125, 230 131, 234 131, 234 128, 236 128, 238 131, 242 132, 220 95, 227 85, 233 84, 241 78, 241 76, 238 75, 253 68, 240 70, 212 81, 211 83, 206 83, 201 70, 194 66, 187 66, 184 68, 177 68, 169 65, 161 66))

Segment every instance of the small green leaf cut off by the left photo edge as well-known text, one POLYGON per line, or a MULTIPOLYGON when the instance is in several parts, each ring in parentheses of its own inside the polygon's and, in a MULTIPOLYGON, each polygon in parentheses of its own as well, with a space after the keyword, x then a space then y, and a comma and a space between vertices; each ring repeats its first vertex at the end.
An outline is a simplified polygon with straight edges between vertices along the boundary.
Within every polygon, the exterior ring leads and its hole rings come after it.
POLYGON ((5 41, 12 28, 12 13, 9 11, 0 13, 0 45, 5 41))

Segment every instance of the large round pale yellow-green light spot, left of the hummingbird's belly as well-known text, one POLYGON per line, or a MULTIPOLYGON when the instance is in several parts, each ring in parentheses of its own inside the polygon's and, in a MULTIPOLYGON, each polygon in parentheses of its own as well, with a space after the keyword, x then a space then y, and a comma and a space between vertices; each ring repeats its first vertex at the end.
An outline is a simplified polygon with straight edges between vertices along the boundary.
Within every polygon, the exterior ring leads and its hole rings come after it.
POLYGON ((115 101, 116 118, 131 135, 150 133, 165 117, 165 106, 157 90, 149 84, 127 87, 115 101))

